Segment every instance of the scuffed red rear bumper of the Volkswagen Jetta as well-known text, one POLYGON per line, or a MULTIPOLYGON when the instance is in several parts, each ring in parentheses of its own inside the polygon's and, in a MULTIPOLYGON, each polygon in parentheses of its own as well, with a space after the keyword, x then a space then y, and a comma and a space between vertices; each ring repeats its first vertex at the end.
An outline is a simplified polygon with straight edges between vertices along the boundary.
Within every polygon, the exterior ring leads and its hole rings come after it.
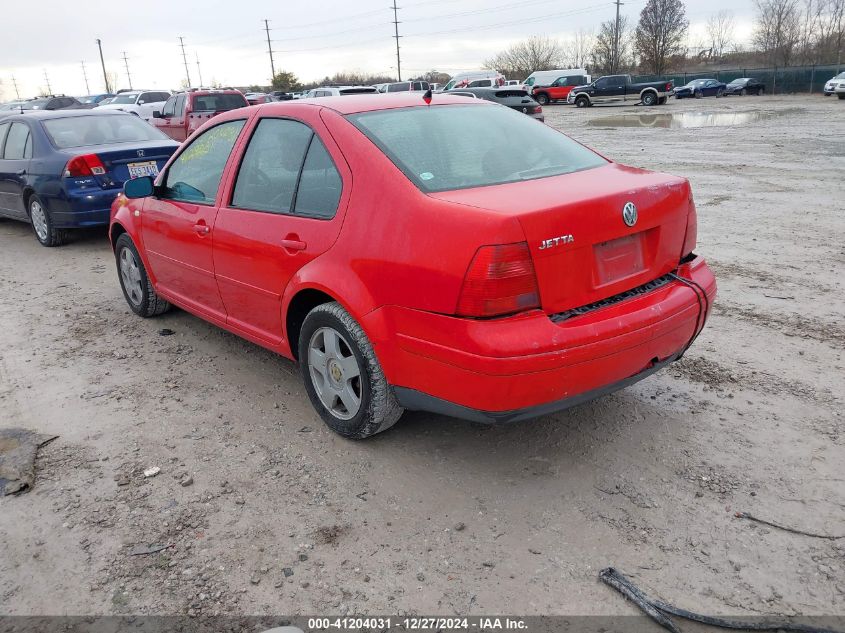
MULTIPOLYGON (((715 299, 715 278, 702 258, 677 274, 715 299)), ((562 323, 539 310, 482 321, 385 307, 364 327, 405 408, 507 422, 559 411, 654 373, 677 359, 696 325, 703 327, 706 315, 699 315, 693 290, 672 282, 562 323)))

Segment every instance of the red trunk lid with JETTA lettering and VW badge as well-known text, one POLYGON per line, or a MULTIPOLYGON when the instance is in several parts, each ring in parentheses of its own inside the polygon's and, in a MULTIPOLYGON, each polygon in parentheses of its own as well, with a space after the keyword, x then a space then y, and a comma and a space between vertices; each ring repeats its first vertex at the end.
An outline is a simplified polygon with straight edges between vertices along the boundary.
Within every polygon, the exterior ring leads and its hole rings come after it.
POLYGON ((542 308, 553 314, 677 268, 690 189, 683 178, 610 163, 562 176, 431 195, 514 216, 534 261, 542 308), (632 226, 623 218, 629 202, 636 207, 632 226))

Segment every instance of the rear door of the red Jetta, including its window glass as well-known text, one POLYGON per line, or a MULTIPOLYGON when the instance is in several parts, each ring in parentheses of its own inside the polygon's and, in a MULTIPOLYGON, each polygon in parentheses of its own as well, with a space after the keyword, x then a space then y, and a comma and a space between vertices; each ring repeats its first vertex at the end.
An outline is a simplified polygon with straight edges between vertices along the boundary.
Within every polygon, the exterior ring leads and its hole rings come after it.
POLYGON ((270 346, 283 342, 285 287, 337 239, 351 184, 322 121, 304 110, 256 121, 215 225, 227 323, 270 346))

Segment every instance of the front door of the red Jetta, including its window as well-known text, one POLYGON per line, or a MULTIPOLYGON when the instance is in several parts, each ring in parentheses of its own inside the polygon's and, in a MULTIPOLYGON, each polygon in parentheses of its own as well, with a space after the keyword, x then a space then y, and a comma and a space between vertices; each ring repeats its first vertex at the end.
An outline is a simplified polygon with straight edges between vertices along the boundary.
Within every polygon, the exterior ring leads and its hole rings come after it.
POLYGON ((205 130, 184 147, 144 203, 141 236, 156 289, 180 305, 225 322, 214 279, 212 241, 220 183, 245 119, 205 130))

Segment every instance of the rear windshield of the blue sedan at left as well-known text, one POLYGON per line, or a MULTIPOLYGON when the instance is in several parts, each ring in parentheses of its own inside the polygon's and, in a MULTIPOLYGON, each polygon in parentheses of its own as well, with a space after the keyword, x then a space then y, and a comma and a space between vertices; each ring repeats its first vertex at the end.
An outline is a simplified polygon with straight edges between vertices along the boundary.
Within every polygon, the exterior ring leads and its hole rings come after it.
POLYGON ((133 114, 126 116, 75 116, 48 119, 41 124, 56 149, 131 143, 137 141, 169 140, 149 123, 133 114))

